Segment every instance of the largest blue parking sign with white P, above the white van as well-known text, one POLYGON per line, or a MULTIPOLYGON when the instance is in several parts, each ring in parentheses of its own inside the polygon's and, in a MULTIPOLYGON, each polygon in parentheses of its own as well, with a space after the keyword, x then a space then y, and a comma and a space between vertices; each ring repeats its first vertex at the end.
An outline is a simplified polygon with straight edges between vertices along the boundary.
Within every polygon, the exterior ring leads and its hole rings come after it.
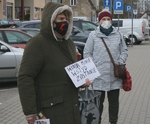
POLYGON ((114 1, 114 14, 123 14, 123 0, 114 1))

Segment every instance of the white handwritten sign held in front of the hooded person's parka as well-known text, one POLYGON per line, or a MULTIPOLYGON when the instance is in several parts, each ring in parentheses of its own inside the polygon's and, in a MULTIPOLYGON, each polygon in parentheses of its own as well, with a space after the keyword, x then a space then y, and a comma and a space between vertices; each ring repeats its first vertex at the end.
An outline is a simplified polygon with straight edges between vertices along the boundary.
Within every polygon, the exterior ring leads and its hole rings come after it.
POLYGON ((76 87, 83 85, 87 78, 93 80, 100 76, 90 57, 66 66, 65 70, 76 87))

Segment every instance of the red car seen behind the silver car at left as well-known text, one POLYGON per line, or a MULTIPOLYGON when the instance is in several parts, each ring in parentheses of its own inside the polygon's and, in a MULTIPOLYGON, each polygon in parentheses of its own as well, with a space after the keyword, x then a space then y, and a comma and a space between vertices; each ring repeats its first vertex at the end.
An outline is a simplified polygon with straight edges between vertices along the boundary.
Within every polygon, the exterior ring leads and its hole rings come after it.
POLYGON ((32 35, 24 31, 13 28, 0 28, 0 40, 11 46, 25 48, 26 43, 32 38, 32 35))

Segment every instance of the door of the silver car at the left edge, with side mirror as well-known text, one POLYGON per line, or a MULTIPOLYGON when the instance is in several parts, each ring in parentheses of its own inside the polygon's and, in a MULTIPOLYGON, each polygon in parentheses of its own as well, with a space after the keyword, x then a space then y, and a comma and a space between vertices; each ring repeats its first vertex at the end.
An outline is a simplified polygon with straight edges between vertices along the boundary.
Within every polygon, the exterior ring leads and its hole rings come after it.
POLYGON ((0 78, 15 77, 16 74, 16 57, 13 51, 6 45, 0 43, 0 78), (6 47, 7 50, 2 50, 6 47))

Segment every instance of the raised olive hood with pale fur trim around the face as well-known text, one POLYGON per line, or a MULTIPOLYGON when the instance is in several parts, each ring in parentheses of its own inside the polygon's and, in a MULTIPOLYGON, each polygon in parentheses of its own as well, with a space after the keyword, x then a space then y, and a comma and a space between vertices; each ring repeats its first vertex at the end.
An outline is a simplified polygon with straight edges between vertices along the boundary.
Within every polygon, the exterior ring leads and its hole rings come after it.
POLYGON ((64 10, 67 10, 69 13, 68 15, 69 26, 64 39, 67 40, 70 37, 72 31, 72 25, 73 25, 72 9, 68 5, 63 5, 55 2, 47 3, 43 9, 42 20, 41 20, 41 31, 40 31, 42 35, 49 38, 53 37, 56 40, 58 40, 52 27, 56 16, 59 13, 63 12, 64 10))

